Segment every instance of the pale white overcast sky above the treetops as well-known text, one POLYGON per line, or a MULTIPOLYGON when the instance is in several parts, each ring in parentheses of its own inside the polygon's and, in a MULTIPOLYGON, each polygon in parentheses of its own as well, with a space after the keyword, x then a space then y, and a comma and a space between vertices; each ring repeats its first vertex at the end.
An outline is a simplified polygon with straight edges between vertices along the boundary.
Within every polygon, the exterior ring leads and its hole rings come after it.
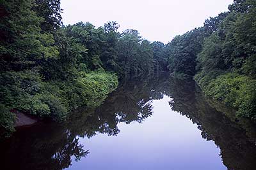
POLYGON ((228 10, 232 0, 61 0, 63 24, 90 22, 96 27, 108 21, 119 31, 136 29, 149 41, 168 43, 203 25, 204 20, 228 10))

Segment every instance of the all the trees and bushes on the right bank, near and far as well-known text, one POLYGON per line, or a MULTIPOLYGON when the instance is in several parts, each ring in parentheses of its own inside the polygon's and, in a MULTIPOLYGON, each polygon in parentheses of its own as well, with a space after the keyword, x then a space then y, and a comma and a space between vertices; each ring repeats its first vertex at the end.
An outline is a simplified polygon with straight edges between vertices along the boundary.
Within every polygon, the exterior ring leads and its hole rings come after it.
POLYGON ((228 10, 168 43, 168 69, 194 76, 207 96, 255 120, 256 1, 235 0, 228 10))

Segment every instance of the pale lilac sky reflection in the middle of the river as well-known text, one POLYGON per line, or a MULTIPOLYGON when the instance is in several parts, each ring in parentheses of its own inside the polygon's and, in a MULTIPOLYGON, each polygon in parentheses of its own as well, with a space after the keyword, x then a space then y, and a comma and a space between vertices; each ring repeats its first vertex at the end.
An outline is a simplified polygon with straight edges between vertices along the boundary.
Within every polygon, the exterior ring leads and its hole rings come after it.
POLYGON ((170 98, 153 101, 154 113, 142 124, 118 124, 117 136, 99 134, 81 139, 86 158, 72 161, 69 169, 225 170, 220 149, 202 139, 197 125, 172 111, 170 98))

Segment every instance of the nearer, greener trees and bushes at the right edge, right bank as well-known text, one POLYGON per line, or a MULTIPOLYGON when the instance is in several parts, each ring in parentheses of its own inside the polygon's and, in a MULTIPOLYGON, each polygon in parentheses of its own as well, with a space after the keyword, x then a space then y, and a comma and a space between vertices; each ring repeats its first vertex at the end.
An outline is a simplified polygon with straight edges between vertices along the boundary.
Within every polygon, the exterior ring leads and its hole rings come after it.
POLYGON ((255 119, 255 1, 234 1, 218 31, 205 39, 195 80, 205 94, 255 119))

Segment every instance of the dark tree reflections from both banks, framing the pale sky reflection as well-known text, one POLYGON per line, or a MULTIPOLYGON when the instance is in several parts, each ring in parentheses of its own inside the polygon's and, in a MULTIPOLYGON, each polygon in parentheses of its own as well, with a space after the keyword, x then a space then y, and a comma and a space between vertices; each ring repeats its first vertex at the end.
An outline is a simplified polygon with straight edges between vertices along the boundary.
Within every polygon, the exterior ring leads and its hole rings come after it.
POLYGON ((120 132, 120 122, 131 124, 147 121, 152 116, 152 101, 163 99, 164 96, 169 97, 173 111, 198 125, 202 138, 213 140, 220 147, 223 164, 228 169, 255 169, 255 125, 248 120, 233 118, 234 111, 205 99, 193 81, 175 80, 164 74, 126 80, 102 106, 90 110, 81 108, 63 124, 42 123, 20 129, 8 141, 1 143, 1 167, 70 167, 72 160, 79 161, 90 155, 90 148, 81 145, 79 138, 92 138, 97 134, 116 136, 120 132))

